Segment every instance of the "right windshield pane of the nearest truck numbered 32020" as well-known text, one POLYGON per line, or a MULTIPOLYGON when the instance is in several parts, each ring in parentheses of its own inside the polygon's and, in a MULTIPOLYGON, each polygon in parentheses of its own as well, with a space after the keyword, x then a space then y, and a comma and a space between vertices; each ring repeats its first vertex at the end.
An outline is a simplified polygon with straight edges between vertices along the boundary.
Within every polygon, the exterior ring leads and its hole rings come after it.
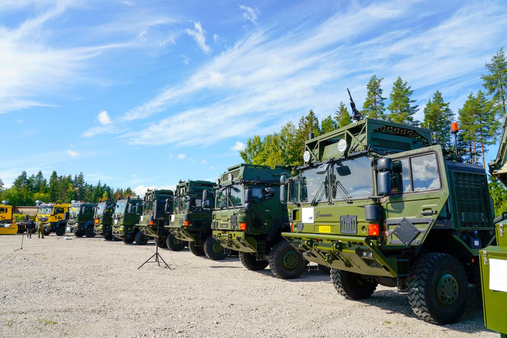
POLYGON ((373 195, 372 162, 368 157, 335 163, 332 179, 335 201, 369 198, 373 195))

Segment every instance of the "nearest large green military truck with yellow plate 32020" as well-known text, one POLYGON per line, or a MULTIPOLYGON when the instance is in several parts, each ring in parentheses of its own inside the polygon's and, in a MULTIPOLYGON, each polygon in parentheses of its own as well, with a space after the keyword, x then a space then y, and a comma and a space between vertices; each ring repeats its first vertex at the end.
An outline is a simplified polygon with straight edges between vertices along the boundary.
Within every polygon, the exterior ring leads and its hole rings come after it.
POLYGON ((479 249, 495 239, 485 169, 456 161, 428 129, 384 121, 309 138, 304 165, 280 179, 282 235, 330 267, 344 297, 397 287, 419 318, 456 322, 468 282, 480 282, 479 249))

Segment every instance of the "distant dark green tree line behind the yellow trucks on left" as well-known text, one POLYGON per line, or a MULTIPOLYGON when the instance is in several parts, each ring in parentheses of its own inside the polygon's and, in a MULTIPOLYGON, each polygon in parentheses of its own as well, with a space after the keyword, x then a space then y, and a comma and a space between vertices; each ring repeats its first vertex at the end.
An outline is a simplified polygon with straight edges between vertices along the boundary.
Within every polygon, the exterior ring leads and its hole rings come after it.
POLYGON ((114 189, 100 180, 96 185, 87 183, 82 172, 73 178, 72 175, 58 175, 53 171, 48 180, 42 171, 30 176, 23 171, 8 189, 0 178, 0 200, 7 200, 10 205, 29 206, 35 205, 35 201, 70 203, 73 200, 96 203, 100 198, 105 200, 128 194, 134 194, 130 187, 114 189))

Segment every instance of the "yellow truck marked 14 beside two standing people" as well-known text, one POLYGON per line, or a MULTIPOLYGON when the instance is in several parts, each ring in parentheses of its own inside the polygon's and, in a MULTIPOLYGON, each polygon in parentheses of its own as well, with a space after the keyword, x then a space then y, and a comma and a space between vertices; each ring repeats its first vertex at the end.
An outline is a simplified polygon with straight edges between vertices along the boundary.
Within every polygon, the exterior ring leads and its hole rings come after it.
POLYGON ((44 235, 46 236, 49 236, 52 232, 56 236, 65 234, 69 207, 69 203, 43 203, 39 205, 37 215, 35 215, 35 226, 38 227, 42 223, 44 235))

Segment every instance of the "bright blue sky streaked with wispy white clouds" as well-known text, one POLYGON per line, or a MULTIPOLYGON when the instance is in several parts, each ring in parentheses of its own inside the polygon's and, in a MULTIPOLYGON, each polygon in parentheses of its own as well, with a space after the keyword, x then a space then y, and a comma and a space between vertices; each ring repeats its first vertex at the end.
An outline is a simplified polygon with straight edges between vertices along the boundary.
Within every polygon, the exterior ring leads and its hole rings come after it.
MULTIPOLYGON (((0 178, 173 187, 241 163, 248 137, 333 115, 401 76, 420 107, 482 88, 498 1, 2 0, 0 178)), ((497 145, 486 155, 496 156, 497 145)))

